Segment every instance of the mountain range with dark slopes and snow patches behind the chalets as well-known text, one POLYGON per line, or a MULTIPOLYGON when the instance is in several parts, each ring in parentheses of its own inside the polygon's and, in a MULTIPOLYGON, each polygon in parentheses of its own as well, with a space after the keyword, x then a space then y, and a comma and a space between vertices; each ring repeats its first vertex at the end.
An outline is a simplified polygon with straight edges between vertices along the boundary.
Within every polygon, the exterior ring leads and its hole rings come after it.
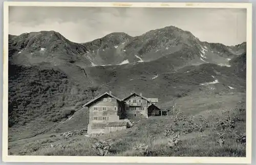
POLYGON ((245 47, 201 42, 174 26, 82 44, 53 31, 9 35, 9 138, 67 119, 63 130, 82 128, 87 118, 81 104, 108 90, 121 98, 143 92, 164 108, 194 93, 243 92, 245 47))

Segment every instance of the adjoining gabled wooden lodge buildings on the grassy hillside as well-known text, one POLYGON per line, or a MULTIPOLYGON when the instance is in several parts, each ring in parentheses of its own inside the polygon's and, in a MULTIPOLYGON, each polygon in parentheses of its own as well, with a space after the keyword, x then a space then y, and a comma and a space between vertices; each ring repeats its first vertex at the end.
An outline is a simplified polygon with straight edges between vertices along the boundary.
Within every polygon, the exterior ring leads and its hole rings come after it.
POLYGON ((157 98, 145 98, 136 93, 122 100, 111 92, 106 92, 82 106, 89 110, 88 133, 109 133, 126 129, 130 123, 124 119, 161 116, 157 102, 157 98))

